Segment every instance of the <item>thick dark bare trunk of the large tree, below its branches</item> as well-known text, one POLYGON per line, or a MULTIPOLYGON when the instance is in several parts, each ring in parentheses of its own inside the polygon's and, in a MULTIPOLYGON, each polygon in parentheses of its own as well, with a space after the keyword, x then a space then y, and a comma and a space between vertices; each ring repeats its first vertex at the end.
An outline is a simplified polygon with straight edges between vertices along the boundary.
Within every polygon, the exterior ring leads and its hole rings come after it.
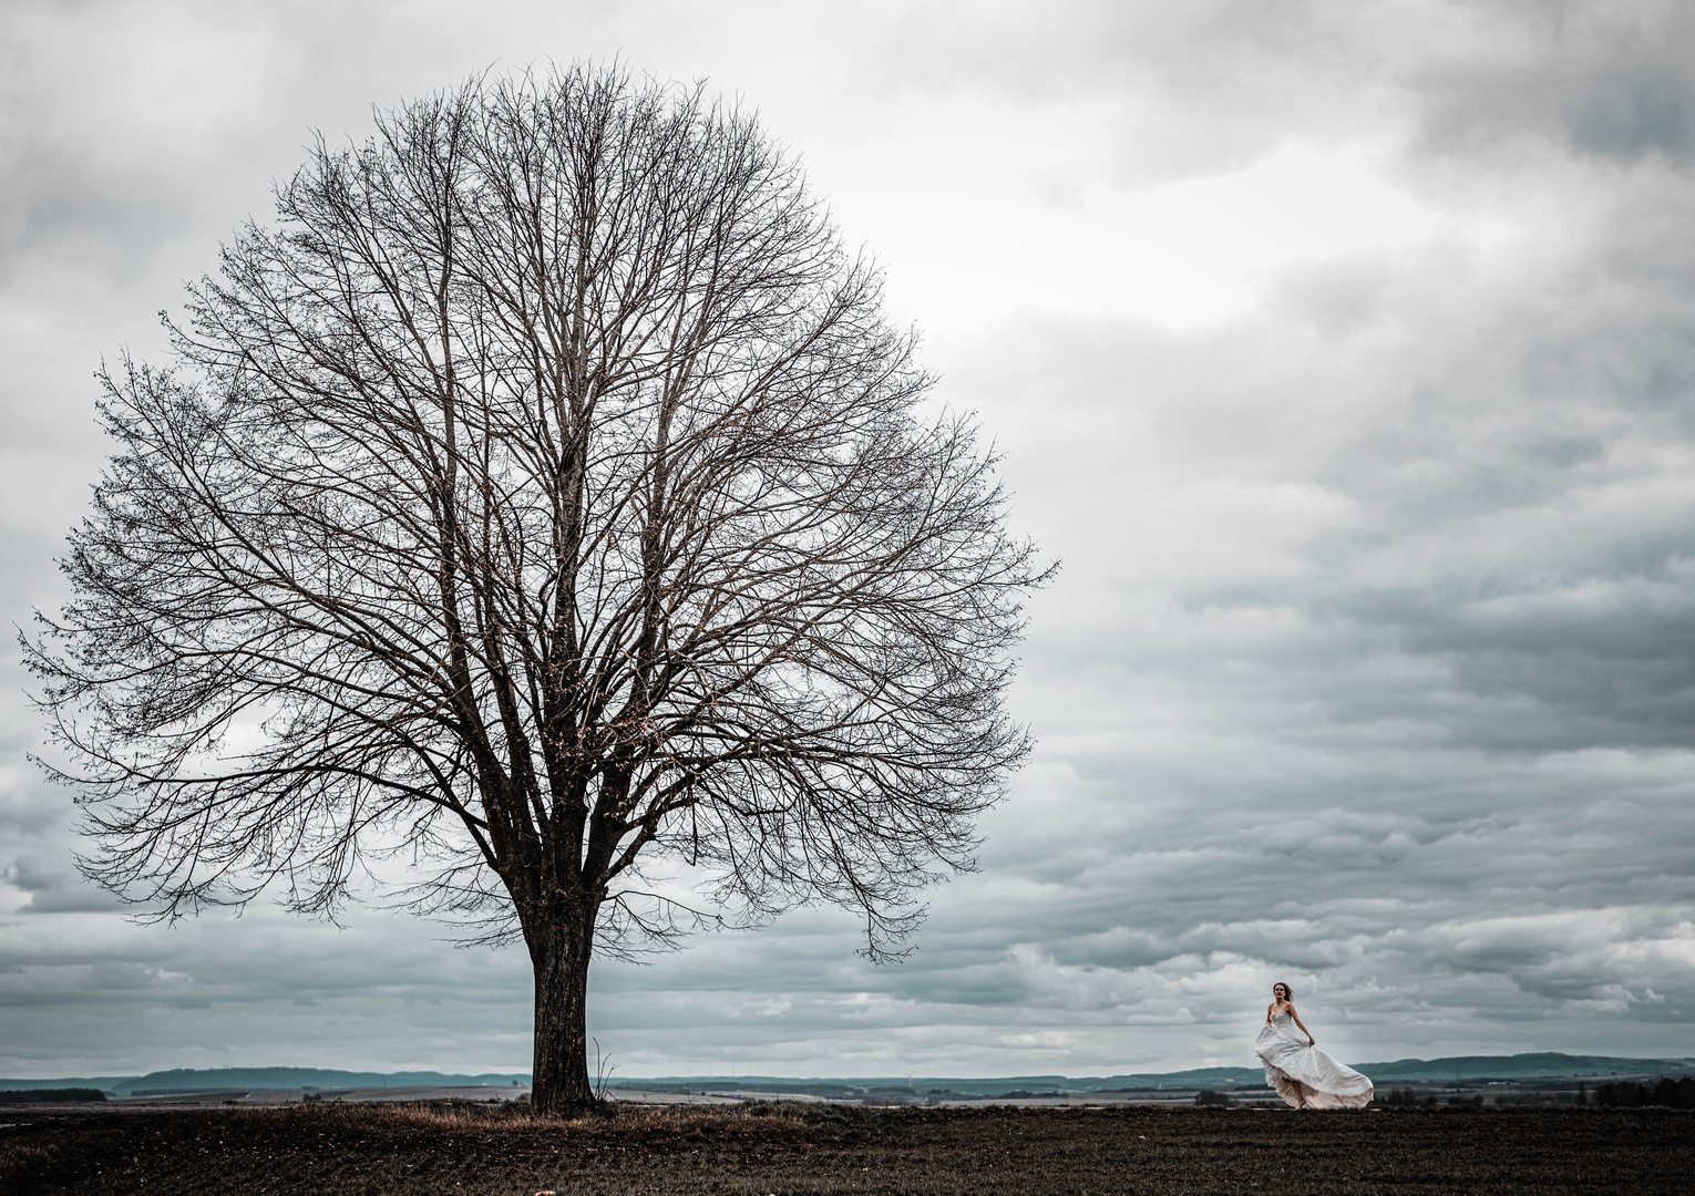
POLYGON ((592 947, 592 930, 581 925, 554 925, 531 935, 531 961, 536 967, 531 1106, 544 1113, 578 1113, 595 1103, 588 1077, 592 947))

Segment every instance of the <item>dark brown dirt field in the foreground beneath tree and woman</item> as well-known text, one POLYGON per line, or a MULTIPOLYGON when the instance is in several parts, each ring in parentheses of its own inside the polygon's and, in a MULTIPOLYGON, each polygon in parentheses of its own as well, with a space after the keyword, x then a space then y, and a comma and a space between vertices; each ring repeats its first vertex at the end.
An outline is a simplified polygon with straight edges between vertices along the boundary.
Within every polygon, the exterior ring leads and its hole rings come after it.
POLYGON ((0 1193, 1690 1193, 1695 1113, 1442 1108, 5 1110, 0 1193))

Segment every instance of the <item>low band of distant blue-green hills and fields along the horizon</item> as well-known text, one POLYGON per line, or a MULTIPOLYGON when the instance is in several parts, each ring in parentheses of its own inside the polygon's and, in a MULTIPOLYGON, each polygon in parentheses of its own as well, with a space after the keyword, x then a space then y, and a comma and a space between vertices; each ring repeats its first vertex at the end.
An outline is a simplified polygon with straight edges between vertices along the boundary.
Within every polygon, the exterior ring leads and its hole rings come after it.
MULTIPOLYGON (((1442 1079, 1536 1079, 1553 1076, 1695 1076, 1695 1059, 1622 1059, 1615 1055, 1458 1055, 1453 1059, 1397 1059, 1356 1064, 1380 1086, 1388 1082, 1442 1079)), ((336 1071, 329 1067, 210 1067, 154 1071, 146 1076, 75 1076, 53 1079, 0 1079, 0 1089, 98 1088, 114 1096, 131 1093, 195 1093, 236 1088, 510 1088, 527 1086, 529 1072, 483 1072, 459 1076, 439 1071, 336 1071)), ((792 1076, 664 1076, 624 1079, 612 1088, 700 1091, 742 1089, 763 1093, 868 1094, 876 1091, 1000 1096, 1005 1093, 1100 1093, 1131 1088, 1231 1088, 1264 1082, 1259 1067, 1193 1067, 1190 1071, 1136 1072, 1127 1076, 1003 1076, 998 1079, 954 1079, 924 1076, 880 1076, 866 1079, 795 1079, 792 1076)))

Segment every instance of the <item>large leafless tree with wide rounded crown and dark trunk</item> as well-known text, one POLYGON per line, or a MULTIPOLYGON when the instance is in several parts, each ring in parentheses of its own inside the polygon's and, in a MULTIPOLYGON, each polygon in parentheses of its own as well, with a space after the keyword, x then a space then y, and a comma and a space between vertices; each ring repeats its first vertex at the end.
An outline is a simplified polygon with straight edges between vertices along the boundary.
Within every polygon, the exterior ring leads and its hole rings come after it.
POLYGON ((92 878, 334 916, 402 854, 417 910, 522 935, 536 1105, 580 1106, 597 945, 822 900, 880 955, 971 866, 1042 571, 751 117, 578 66, 376 129, 168 368, 102 373, 119 449, 25 652, 92 878))

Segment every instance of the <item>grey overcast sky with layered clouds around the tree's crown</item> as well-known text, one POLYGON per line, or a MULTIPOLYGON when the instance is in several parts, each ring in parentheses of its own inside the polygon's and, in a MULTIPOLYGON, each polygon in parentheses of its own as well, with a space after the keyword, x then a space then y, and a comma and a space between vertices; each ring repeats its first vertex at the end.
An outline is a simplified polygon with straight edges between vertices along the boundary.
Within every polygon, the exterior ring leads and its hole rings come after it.
MULTIPOLYGON (((705 78, 803 156, 1005 452, 1039 747, 873 967, 807 910, 636 967, 620 1076, 1695 1054, 1695 7, 0 0, 0 603, 90 378, 312 130, 473 71, 705 78)), ((137 927, 0 654, 0 1076, 524 1071, 522 950, 137 927)))

